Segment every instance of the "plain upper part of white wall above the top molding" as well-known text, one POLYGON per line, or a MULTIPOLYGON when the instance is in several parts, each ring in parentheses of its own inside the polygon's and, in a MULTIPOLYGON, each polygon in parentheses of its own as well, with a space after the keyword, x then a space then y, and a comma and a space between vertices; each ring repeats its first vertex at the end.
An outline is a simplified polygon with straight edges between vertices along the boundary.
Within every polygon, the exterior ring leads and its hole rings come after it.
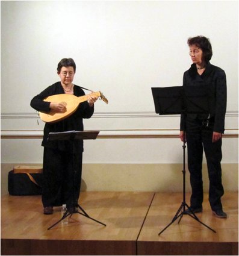
POLYGON ((29 101, 58 81, 63 57, 76 62, 76 84, 108 97, 96 111, 154 111, 151 87, 181 86, 187 39, 199 34, 237 110, 237 1, 1 1, 1 111, 33 113, 29 101))

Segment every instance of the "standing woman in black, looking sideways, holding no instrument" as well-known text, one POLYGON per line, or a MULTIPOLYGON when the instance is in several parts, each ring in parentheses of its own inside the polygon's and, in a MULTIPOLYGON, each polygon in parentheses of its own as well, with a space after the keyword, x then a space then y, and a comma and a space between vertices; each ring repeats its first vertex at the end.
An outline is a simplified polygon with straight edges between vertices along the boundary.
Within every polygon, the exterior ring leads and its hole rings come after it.
MULTIPOLYGON (((226 74, 210 63, 213 55, 210 40, 203 36, 188 39, 190 57, 193 61, 190 69, 184 73, 183 86, 205 85, 211 92, 209 113, 186 114, 181 116, 180 139, 185 139, 188 148, 188 170, 190 172, 191 198, 190 208, 194 213, 202 212, 203 182, 202 159, 203 149, 210 180, 209 202, 213 214, 226 218, 221 197, 224 194, 222 186, 222 134, 225 131, 226 114, 226 74)), ((188 211, 190 213, 190 211, 188 211)))

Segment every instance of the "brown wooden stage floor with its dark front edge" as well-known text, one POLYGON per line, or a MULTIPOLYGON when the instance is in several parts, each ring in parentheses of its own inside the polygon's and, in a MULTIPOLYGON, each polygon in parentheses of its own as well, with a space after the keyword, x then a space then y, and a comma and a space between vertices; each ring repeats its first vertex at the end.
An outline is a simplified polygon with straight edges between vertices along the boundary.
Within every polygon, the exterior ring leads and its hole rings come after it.
MULTIPOLYGON (((186 202, 189 204, 189 194, 186 202)), ((81 192, 75 213, 58 223, 61 207, 44 215, 41 196, 2 196, 1 255, 238 255, 238 193, 222 198, 228 219, 213 216, 205 193, 199 220, 184 214, 172 223, 182 193, 81 192)))

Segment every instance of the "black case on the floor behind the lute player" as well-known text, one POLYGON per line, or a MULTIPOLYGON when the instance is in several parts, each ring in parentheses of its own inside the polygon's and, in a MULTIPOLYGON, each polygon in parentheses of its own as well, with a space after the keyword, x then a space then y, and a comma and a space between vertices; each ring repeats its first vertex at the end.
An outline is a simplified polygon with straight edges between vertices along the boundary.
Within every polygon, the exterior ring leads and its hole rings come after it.
POLYGON ((42 195, 42 173, 8 172, 8 192, 12 196, 42 195))

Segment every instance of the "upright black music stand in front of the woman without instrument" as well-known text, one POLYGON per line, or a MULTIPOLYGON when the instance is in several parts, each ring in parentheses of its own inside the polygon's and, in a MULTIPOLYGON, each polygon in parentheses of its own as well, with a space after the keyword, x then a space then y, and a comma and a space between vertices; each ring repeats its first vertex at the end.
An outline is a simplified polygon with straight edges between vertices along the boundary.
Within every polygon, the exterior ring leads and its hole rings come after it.
MULTIPOLYGON (((187 113, 208 113, 208 89, 205 86, 193 86, 193 87, 161 87, 161 88, 152 88, 152 94, 154 98, 155 112, 158 114, 182 114, 182 122, 184 125, 185 131, 185 115, 187 113)), ((201 222, 199 218, 194 214, 193 210, 188 206, 185 200, 185 132, 183 139, 183 199, 182 204, 173 217, 172 221, 167 225, 158 235, 165 229, 167 229, 176 219, 180 218, 178 223, 181 221, 182 216, 184 214, 189 215, 193 219, 197 220, 197 222, 206 226, 206 228, 211 229, 214 233, 216 231, 210 226, 205 225, 205 223, 201 222), (185 207, 188 208, 189 211, 185 210, 185 207)))

